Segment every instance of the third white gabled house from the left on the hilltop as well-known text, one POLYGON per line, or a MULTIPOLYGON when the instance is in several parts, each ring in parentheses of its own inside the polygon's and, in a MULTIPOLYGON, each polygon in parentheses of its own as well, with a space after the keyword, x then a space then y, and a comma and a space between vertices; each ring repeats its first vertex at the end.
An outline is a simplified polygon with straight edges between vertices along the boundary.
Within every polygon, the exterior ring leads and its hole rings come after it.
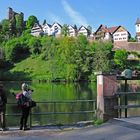
POLYGON ((62 28, 62 26, 59 23, 55 22, 51 26, 51 31, 50 31, 51 35, 60 36, 61 35, 61 28, 62 28))

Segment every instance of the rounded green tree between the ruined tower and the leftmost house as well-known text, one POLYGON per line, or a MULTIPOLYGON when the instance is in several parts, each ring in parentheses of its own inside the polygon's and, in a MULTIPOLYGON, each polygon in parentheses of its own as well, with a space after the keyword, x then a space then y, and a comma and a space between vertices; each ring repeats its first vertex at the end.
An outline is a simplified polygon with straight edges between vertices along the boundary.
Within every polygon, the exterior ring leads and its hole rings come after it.
POLYGON ((27 21, 26 21, 26 28, 31 29, 34 26, 35 23, 39 23, 37 17, 35 17, 33 15, 29 16, 27 21))

